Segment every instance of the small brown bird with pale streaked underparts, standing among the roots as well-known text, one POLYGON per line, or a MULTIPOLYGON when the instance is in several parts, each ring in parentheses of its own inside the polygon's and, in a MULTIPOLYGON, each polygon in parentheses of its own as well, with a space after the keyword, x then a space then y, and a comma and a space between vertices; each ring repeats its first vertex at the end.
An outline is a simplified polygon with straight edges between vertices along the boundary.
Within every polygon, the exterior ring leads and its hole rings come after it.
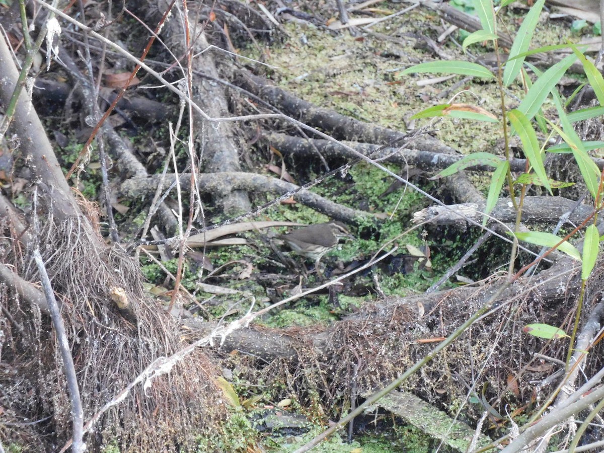
POLYGON ((339 222, 316 223, 277 237, 283 239, 293 251, 315 260, 317 272, 323 255, 338 245, 340 239, 354 239, 350 231, 339 222))

